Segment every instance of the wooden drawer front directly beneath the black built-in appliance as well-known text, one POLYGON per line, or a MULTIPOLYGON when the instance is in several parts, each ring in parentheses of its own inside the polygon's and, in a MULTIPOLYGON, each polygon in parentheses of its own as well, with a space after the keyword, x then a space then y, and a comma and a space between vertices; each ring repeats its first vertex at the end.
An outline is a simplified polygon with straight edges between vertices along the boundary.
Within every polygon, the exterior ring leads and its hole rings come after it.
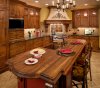
POLYGON ((9 30, 9 40, 14 40, 14 39, 23 39, 24 38, 24 30, 9 30))

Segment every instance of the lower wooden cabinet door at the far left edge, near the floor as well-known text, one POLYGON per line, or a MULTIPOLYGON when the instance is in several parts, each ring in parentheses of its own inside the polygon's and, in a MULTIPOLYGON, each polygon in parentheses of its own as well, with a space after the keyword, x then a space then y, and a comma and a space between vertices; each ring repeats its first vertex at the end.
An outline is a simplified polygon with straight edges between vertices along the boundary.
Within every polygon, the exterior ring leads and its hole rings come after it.
POLYGON ((0 45, 0 68, 3 68, 6 64, 6 46, 0 45))

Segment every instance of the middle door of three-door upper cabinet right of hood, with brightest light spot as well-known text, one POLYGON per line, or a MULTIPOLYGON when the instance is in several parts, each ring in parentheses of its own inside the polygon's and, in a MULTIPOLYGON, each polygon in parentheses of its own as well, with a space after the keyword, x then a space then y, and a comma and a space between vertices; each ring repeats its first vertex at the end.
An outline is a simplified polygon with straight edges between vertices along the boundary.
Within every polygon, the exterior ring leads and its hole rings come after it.
POLYGON ((81 27, 89 27, 89 12, 82 10, 81 12, 81 27))

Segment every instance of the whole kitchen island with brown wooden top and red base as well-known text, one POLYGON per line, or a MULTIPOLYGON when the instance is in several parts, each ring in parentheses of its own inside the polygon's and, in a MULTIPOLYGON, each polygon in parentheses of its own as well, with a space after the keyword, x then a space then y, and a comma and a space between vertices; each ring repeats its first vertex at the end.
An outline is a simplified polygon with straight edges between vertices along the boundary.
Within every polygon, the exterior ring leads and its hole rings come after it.
POLYGON ((78 45, 70 44, 75 39, 67 41, 68 44, 64 48, 70 48, 75 52, 67 57, 58 55, 57 50, 44 48, 46 53, 35 65, 24 63, 32 56, 29 51, 9 59, 9 69, 18 77, 18 88, 72 88, 72 66, 83 52, 86 41, 80 40, 82 44, 78 45))

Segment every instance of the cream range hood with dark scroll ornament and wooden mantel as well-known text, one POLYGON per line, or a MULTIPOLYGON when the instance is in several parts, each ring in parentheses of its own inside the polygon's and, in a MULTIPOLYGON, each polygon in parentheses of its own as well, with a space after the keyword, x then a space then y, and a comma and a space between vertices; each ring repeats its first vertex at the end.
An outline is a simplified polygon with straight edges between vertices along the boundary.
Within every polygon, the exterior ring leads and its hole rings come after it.
POLYGON ((50 8, 50 14, 45 20, 45 24, 53 24, 53 23, 62 23, 64 25, 69 25, 71 23, 71 19, 68 17, 67 13, 64 11, 57 11, 56 8, 50 8))

